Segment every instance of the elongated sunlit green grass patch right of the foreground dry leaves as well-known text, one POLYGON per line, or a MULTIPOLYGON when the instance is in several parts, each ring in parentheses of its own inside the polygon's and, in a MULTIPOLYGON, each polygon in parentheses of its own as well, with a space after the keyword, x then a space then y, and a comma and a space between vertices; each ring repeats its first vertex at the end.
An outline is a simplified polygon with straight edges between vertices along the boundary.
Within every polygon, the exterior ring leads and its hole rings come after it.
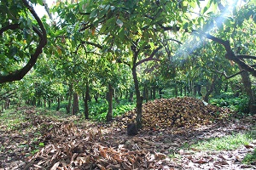
POLYGON ((236 133, 221 138, 212 138, 192 144, 189 148, 197 150, 236 150, 241 145, 249 144, 255 139, 255 131, 236 133))

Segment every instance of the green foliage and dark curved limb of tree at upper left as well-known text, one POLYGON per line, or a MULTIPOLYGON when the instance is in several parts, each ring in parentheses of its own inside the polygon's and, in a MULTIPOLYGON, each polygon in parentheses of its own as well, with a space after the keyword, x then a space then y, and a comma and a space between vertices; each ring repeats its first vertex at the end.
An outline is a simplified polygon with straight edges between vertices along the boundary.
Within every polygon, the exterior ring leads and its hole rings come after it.
POLYGON ((47 33, 32 3, 37 1, 1 1, 0 83, 23 78, 43 53, 47 33))

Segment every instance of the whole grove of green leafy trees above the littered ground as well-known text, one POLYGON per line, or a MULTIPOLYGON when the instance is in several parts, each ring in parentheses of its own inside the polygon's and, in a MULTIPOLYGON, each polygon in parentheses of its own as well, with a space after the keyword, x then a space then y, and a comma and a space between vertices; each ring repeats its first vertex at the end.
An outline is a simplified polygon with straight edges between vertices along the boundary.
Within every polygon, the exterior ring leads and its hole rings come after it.
POLYGON ((90 118, 90 100, 246 94, 256 113, 256 1, 0 0, 0 104, 90 118), (47 11, 39 18, 35 5, 47 11), (50 6, 50 8, 49 8, 50 6), (165 93, 165 94, 164 94, 165 93), (240 93, 240 94, 239 94, 240 93))

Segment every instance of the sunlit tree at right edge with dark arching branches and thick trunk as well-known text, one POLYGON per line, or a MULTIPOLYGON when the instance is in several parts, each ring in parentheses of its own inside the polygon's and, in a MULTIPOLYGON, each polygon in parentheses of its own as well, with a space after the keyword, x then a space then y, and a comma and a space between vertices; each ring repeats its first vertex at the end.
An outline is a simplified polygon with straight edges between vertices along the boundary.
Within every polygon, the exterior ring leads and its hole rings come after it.
MULTIPOLYGON (((226 14, 226 11, 230 8, 229 4, 221 4, 221 7, 224 7, 224 10, 219 8, 220 14, 218 16, 218 20, 221 19, 222 22, 217 22, 215 25, 218 27, 218 31, 214 31, 212 33, 207 32, 203 35, 207 37, 207 39, 220 44, 224 48, 225 59, 229 59, 232 63, 238 65, 240 71, 230 77, 235 77, 236 75, 241 74, 242 82, 249 97, 250 112, 255 114, 256 99, 253 94, 248 73, 253 77, 256 77, 256 57, 247 50, 248 48, 252 48, 252 46, 251 42, 247 42, 247 39, 245 39, 245 37, 250 37, 254 34, 253 28, 256 26, 256 16, 254 14, 255 3, 247 2, 242 5, 238 5, 237 3, 238 2, 236 1, 236 3, 233 4, 234 7, 237 8, 232 7, 233 10, 230 10, 228 14, 226 14), (249 26, 249 29, 245 26, 249 26), (216 36, 213 36, 213 34, 216 36), (228 41, 227 39, 230 39, 231 41, 228 41)), ((213 21, 211 19, 207 21, 207 23, 212 22, 213 21)), ((225 73, 224 76, 227 77, 225 73)))

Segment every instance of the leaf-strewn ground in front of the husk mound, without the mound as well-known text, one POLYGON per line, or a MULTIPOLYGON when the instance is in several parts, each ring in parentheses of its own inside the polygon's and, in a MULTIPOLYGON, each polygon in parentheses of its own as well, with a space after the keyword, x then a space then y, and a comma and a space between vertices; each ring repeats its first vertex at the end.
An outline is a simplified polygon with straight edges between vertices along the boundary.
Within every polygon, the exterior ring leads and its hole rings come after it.
POLYGON ((193 127, 143 128, 128 136, 125 122, 120 124, 125 116, 107 124, 58 114, 26 106, 2 115, 0 169, 256 169, 255 164, 241 163, 256 139, 236 150, 189 147, 201 140, 255 133, 256 116, 193 127))

